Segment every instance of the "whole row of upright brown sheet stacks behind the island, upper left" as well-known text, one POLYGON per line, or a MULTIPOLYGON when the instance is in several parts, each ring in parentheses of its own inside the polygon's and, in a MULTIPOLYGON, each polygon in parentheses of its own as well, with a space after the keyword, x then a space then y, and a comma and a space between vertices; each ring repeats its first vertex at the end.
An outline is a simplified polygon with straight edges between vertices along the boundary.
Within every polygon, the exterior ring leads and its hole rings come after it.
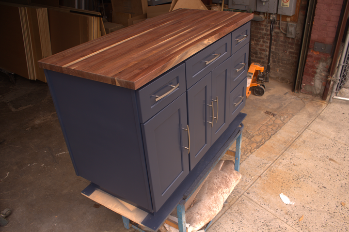
POLYGON ((100 13, 0 2, 0 68, 46 82, 38 62, 105 35, 100 13))

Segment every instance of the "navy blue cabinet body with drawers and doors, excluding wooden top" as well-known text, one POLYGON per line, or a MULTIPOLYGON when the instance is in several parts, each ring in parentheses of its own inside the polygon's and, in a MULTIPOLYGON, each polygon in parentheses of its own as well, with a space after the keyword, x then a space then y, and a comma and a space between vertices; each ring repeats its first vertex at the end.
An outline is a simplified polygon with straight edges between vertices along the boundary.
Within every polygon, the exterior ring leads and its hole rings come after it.
POLYGON ((245 105, 249 27, 137 90, 45 70, 76 173, 159 211, 245 105))

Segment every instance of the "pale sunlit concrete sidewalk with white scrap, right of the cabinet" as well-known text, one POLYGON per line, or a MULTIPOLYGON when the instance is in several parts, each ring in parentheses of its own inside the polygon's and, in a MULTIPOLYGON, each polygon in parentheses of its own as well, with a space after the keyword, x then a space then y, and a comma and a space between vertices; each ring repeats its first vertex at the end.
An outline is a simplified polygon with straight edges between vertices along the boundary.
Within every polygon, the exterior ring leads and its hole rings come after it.
MULTIPOLYGON (((265 98, 270 94, 266 93, 265 98)), ((319 98, 309 100, 310 96, 303 99, 302 94, 289 94, 301 99, 304 106, 295 112, 300 108, 296 104, 299 100, 292 98, 286 105, 295 109, 294 116, 245 157, 240 183, 208 232, 348 231, 349 102, 333 100, 326 105, 319 98), (281 193, 295 204, 285 204, 279 197, 281 193)), ((247 104, 263 101, 253 97, 247 104)), ((269 105, 264 102, 263 106, 269 105)), ((287 111, 287 106, 279 105, 279 112, 287 111)), ((245 110, 252 108, 247 105, 245 110)), ((255 112, 253 118, 244 122, 246 130, 253 127, 254 121, 261 121, 261 113, 255 112)), ((264 121, 260 127, 267 124, 268 120, 264 121)))

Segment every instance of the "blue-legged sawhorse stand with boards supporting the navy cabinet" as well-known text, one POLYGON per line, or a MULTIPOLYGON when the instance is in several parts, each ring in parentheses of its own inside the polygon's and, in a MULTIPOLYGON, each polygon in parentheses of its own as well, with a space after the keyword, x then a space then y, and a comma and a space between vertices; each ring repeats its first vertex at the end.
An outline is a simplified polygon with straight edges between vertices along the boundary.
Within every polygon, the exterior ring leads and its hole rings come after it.
MULTIPOLYGON (((99 186, 91 183, 81 194, 91 200, 111 209, 122 216, 124 226, 127 229, 134 228, 144 232, 140 226, 157 231, 166 221, 174 209, 177 209, 178 230, 186 232, 185 203, 190 200, 195 190, 205 181, 210 171, 221 160, 222 156, 236 141, 235 170, 240 169, 241 139, 243 124, 246 114, 239 113, 222 136, 210 147, 206 155, 199 161, 181 185, 174 191, 170 198, 155 214, 147 213, 121 199, 104 192, 99 186), (135 225, 131 224, 133 221, 135 225)), ((209 225, 206 227, 208 228, 209 225)))

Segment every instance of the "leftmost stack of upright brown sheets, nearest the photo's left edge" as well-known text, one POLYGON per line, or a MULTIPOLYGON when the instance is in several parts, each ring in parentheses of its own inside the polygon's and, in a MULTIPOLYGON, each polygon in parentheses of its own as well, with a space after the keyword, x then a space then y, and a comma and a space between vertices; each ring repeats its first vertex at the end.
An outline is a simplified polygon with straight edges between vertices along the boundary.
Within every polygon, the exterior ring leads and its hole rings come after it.
POLYGON ((52 55, 48 11, 0 2, 0 67, 31 80, 46 82, 38 60, 52 55), (4 23, 6 22, 6 23, 4 23))

